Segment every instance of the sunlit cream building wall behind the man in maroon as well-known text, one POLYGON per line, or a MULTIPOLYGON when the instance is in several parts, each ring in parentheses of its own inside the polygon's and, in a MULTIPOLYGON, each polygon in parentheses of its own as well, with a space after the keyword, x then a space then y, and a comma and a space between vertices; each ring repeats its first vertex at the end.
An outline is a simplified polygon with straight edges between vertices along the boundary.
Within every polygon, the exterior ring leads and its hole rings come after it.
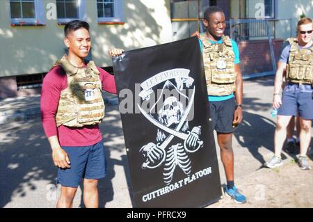
MULTIPOLYGON (((49 10, 44 1, 45 13, 49 10)), ((125 24, 97 23, 96 0, 86 0, 87 22, 93 41, 93 60, 98 66, 111 66, 110 47, 125 50, 172 41, 170 0, 123 0, 125 24)), ((0 1, 0 77, 48 72, 64 54, 64 25, 45 19, 45 26, 10 25, 10 3, 0 1)))

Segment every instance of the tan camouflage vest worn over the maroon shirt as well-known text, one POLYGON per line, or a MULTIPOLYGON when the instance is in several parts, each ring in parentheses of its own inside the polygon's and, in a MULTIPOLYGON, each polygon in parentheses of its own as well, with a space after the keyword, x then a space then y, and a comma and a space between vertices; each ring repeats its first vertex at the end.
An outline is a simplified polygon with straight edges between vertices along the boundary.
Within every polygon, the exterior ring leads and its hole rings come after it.
POLYGON ((77 68, 72 65, 67 56, 56 61, 67 75, 67 88, 61 91, 56 112, 56 125, 67 127, 83 127, 102 122, 104 118, 104 101, 102 98, 102 83, 99 70, 93 61, 86 67, 77 68))

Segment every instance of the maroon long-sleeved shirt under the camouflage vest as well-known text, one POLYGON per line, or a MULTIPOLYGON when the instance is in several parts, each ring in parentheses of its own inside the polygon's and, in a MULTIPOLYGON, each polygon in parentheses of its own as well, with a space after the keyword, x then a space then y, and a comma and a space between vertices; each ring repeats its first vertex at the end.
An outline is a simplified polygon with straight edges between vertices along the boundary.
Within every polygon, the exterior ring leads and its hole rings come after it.
MULTIPOLYGON (((117 93, 113 75, 97 68, 100 72, 102 81, 102 90, 109 93, 117 93)), ((64 70, 57 66, 50 70, 42 83, 42 92, 40 97, 40 111, 42 126, 46 136, 58 136, 61 146, 86 146, 99 143, 102 140, 102 134, 99 125, 85 127, 65 127, 61 125, 56 127, 56 111, 61 91, 67 88, 67 76, 64 70)))

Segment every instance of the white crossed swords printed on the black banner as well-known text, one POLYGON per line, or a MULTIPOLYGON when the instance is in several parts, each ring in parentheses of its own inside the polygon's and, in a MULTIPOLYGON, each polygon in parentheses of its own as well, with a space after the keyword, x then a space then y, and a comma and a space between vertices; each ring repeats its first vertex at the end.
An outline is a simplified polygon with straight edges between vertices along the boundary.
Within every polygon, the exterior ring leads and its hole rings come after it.
MULTIPOLYGON (((191 100, 188 103, 188 106, 186 108, 186 110, 184 111, 184 115, 182 116, 180 122, 178 123, 178 125, 175 127, 175 129, 170 129, 169 127, 166 127, 165 125, 161 124, 161 122, 155 120, 154 118, 152 118, 146 111, 144 111, 141 106, 139 106, 139 104, 137 104, 138 109, 141 111, 141 113, 143 113, 143 116, 145 116, 145 118, 147 118, 147 120, 149 120, 150 122, 152 122, 152 124, 156 125, 157 127, 159 127, 160 129, 163 129, 163 131, 168 132, 170 134, 170 136, 168 136, 166 138, 165 141, 163 141, 163 143, 161 145, 159 145, 159 143, 157 144, 157 148, 161 149, 163 152, 163 157, 161 159, 161 161, 159 162, 159 164, 157 164, 156 166, 149 166, 148 164, 146 165, 147 168, 157 168, 158 166, 160 166, 164 159, 166 158, 166 152, 165 152, 165 148, 168 146, 168 144, 170 143, 170 141, 172 141, 172 139, 174 138, 174 136, 177 136, 178 138, 182 138, 182 140, 185 141, 186 143, 186 138, 188 138, 189 134, 184 134, 183 132, 180 132, 180 129, 182 129, 182 126, 184 125, 184 122, 188 116, 188 113, 191 110, 191 106, 193 105, 193 100, 195 97, 195 86, 193 86, 193 94, 191 95, 191 100)), ((202 146, 203 141, 198 141, 198 148, 196 148, 195 150, 191 151, 188 150, 189 152, 195 152, 197 151, 200 146, 202 146)))

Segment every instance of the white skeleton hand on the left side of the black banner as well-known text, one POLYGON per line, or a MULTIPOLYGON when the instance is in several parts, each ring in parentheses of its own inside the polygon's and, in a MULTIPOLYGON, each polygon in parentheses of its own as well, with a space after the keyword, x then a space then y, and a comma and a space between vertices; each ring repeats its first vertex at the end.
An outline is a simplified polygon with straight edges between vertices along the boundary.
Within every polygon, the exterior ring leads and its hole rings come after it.
POLYGON ((165 157, 165 151, 158 148, 154 143, 143 145, 139 152, 143 153, 143 157, 147 157, 146 161, 141 166, 143 169, 156 168, 163 162, 165 157), (156 164, 157 166, 150 166, 150 164, 156 164))

